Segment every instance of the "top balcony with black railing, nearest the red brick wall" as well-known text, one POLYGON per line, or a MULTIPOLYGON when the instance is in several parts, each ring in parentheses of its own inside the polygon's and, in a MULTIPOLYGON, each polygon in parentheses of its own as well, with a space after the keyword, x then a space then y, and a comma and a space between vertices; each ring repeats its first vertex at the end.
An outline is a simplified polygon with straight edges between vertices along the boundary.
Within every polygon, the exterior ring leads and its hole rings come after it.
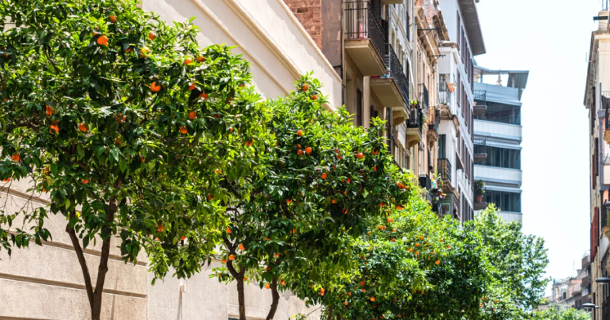
POLYGON ((363 76, 386 74, 387 35, 368 1, 345 2, 345 51, 363 76))

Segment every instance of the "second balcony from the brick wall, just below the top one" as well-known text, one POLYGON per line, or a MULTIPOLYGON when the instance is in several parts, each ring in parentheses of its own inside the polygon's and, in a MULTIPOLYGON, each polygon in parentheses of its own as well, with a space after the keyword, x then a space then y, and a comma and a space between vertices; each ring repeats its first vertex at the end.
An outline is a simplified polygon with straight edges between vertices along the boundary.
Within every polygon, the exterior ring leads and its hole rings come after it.
POLYGON ((386 44, 385 62, 387 71, 385 76, 371 77, 371 90, 375 93, 384 107, 406 114, 409 102, 409 81, 404 76, 403 65, 398 60, 392 44, 386 44))

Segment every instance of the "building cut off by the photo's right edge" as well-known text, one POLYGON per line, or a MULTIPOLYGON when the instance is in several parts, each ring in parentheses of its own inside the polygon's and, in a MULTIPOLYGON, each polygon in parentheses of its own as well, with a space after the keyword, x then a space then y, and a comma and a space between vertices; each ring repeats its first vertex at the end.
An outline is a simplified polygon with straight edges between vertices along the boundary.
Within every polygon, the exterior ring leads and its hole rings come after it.
MULTIPOLYGON (((594 18, 598 29, 591 34, 589 66, 584 93, 584 106, 589 109, 590 155, 590 240, 591 278, 608 277, 608 238, 603 229, 608 226, 610 188, 610 33, 608 7, 594 18)), ((592 282, 591 302, 594 320, 610 319, 610 287, 592 282)))

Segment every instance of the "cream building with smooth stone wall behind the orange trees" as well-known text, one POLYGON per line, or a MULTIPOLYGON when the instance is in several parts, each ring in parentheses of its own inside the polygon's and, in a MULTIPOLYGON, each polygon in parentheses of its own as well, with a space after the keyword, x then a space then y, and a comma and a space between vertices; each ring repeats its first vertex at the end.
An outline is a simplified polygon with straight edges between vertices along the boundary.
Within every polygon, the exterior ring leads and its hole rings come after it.
MULTIPOLYGON (((325 84, 329 108, 342 104, 342 81, 303 26, 282 0, 143 0, 143 9, 156 12, 163 20, 193 22, 201 28, 201 46, 225 43, 237 46, 251 63, 254 85, 268 98, 293 90, 301 74, 314 71, 325 84)), ((402 102, 401 102, 402 103, 402 102)), ((13 182, 5 190, 0 182, 2 201, 19 210, 29 198, 29 184, 13 182)), ((34 205, 48 205, 45 194, 35 194, 34 205)), ((90 318, 84 279, 63 216, 45 223, 52 240, 43 246, 0 252, 0 319, 90 318)), ((89 246, 85 256, 95 273, 101 245, 89 246)), ((237 288, 210 279, 211 268, 204 268, 188 280, 168 277, 151 286, 146 255, 135 265, 120 259, 119 249, 110 251, 109 271, 102 300, 102 319, 167 320, 239 318, 237 288)), ((171 273, 171 272, 170 272, 171 273)), ((95 276, 95 274, 93 275, 95 276)), ((270 290, 257 285, 246 287, 248 319, 264 319, 271 305, 270 290)), ((320 310, 307 308, 290 292, 281 294, 276 318, 288 319, 297 313, 318 319, 320 310)))

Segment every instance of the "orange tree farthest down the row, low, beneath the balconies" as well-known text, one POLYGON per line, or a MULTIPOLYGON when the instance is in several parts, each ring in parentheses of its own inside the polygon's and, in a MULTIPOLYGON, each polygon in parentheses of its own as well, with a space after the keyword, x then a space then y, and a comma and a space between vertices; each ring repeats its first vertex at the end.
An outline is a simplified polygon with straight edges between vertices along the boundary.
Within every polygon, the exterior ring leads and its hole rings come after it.
POLYGON ((418 192, 371 222, 376 229, 348 253, 351 269, 293 291, 321 304, 328 319, 478 319, 487 278, 475 233, 439 219, 418 192), (326 294, 311 294, 310 286, 326 286, 326 294))

